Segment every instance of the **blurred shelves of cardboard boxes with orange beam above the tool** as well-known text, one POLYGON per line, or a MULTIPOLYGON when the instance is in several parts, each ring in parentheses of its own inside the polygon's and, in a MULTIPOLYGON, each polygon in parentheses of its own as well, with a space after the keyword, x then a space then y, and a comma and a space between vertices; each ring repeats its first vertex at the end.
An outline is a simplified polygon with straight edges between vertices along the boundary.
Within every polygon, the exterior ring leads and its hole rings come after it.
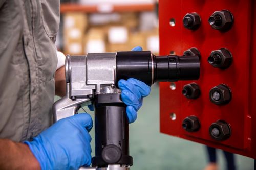
POLYGON ((159 52, 157 2, 61 1, 57 48, 65 54, 128 51, 135 46, 159 52))

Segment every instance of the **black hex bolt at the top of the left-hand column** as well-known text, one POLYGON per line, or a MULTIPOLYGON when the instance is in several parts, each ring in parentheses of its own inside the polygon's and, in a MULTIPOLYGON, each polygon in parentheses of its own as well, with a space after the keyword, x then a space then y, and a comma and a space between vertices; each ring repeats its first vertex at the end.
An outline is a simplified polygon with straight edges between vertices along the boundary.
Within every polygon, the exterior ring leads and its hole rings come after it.
POLYGON ((201 18, 196 12, 187 13, 183 17, 183 25, 190 30, 196 30, 201 24, 201 18))

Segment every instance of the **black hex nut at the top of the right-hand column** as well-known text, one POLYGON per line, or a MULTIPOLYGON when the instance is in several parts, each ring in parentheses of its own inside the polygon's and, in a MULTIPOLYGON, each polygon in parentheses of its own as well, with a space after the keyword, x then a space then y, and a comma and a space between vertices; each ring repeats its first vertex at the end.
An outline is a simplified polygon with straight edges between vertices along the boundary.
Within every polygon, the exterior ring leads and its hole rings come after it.
POLYGON ((213 29, 220 30, 220 31, 228 31, 233 26, 233 15, 228 10, 221 10, 221 11, 215 11, 212 13, 212 15, 209 17, 209 23, 213 29), (210 22, 211 18, 218 18, 220 17, 221 22, 210 22))

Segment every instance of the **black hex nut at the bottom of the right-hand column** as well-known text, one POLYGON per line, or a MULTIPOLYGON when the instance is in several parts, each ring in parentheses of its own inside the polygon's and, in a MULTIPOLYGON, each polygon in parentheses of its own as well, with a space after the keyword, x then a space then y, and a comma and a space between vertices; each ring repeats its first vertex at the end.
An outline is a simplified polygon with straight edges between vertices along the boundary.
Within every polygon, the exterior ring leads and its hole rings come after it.
POLYGON ((209 134, 212 139, 215 140, 226 140, 231 136, 231 128, 228 123, 226 123, 224 120, 218 120, 215 123, 212 123, 209 127, 209 134), (214 129, 219 130, 219 134, 216 135, 214 133, 214 129))

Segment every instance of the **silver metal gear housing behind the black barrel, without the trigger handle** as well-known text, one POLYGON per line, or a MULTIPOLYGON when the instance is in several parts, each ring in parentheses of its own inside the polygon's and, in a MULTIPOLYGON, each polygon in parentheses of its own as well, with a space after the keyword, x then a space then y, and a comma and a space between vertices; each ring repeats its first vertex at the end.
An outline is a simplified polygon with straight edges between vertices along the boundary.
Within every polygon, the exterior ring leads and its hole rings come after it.
MULTIPOLYGON (((66 63, 67 64, 67 63, 66 63)), ((114 85, 116 53, 88 53, 86 56, 69 56, 68 68, 71 96, 100 93, 100 86, 114 85)))

